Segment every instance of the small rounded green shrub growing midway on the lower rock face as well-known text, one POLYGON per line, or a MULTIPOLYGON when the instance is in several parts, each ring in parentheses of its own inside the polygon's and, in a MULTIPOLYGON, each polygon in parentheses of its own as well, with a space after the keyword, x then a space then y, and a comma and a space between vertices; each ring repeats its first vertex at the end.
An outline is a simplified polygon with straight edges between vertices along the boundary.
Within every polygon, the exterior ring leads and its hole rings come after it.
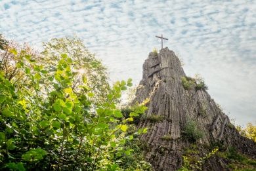
POLYGON ((188 118, 184 127, 184 136, 188 138, 188 141, 196 142, 200 138, 203 138, 203 132, 198 128, 196 121, 188 118))

